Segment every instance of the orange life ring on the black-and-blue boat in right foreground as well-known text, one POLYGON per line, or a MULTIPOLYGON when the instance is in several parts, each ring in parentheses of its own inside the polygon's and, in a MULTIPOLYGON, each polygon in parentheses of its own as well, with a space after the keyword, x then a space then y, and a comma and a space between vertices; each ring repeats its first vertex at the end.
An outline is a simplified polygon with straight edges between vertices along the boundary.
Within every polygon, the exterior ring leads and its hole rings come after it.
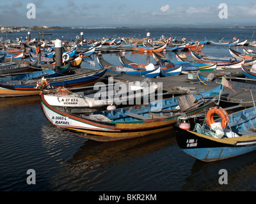
POLYGON ((206 122, 208 126, 211 127, 211 124, 213 124, 215 121, 213 119, 213 115, 217 114, 220 115, 221 118, 221 127, 224 129, 226 128, 229 118, 228 118, 228 113, 223 109, 223 108, 211 108, 207 114, 206 114, 206 122))

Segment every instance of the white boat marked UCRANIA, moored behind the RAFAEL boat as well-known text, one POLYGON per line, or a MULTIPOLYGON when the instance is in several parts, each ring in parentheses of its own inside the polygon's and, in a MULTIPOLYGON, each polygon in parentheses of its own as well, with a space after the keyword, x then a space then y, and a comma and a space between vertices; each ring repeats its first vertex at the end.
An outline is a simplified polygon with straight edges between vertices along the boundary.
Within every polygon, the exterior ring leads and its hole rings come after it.
POLYGON ((54 108, 71 113, 83 112, 86 108, 102 109, 108 105, 113 108, 116 105, 135 104, 136 101, 154 96, 157 89, 158 86, 146 78, 141 82, 95 84, 93 90, 82 92, 72 92, 61 87, 44 94, 44 98, 54 108))

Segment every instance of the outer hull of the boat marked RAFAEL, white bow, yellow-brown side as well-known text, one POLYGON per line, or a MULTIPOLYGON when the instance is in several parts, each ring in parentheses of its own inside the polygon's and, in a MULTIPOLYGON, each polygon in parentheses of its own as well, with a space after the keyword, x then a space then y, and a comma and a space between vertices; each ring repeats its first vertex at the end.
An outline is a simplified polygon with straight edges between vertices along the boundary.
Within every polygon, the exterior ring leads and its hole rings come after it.
MULTIPOLYGON (((47 103, 44 94, 40 93, 40 98, 44 115, 54 126, 99 142, 125 140, 168 131, 173 128, 173 124, 180 116, 149 120, 113 121, 108 119, 99 121, 91 119, 91 116, 81 118, 61 112, 47 103)), ((194 115, 213 105, 213 101, 209 101, 204 106, 186 113, 194 115)))

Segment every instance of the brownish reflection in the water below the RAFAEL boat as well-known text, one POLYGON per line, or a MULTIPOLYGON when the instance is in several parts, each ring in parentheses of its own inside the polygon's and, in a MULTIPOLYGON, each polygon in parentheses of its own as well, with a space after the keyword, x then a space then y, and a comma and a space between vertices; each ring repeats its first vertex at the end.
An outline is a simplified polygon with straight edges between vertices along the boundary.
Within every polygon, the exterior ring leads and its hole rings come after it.
POLYGON ((147 156, 175 144, 175 135, 173 133, 173 136, 170 136, 170 133, 173 131, 110 143, 88 140, 67 163, 72 165, 72 169, 76 173, 79 173, 84 169, 92 170, 97 166, 130 161, 135 157, 147 156))

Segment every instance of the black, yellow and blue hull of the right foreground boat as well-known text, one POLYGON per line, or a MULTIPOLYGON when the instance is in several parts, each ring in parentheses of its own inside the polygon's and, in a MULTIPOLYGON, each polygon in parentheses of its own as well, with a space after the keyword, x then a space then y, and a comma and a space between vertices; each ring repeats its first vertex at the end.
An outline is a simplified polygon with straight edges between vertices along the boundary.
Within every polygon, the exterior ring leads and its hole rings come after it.
POLYGON ((239 137, 244 141, 239 142, 237 139, 238 142, 235 143, 233 138, 212 138, 177 126, 174 129, 180 149, 200 161, 218 161, 256 150, 256 135, 239 137))

